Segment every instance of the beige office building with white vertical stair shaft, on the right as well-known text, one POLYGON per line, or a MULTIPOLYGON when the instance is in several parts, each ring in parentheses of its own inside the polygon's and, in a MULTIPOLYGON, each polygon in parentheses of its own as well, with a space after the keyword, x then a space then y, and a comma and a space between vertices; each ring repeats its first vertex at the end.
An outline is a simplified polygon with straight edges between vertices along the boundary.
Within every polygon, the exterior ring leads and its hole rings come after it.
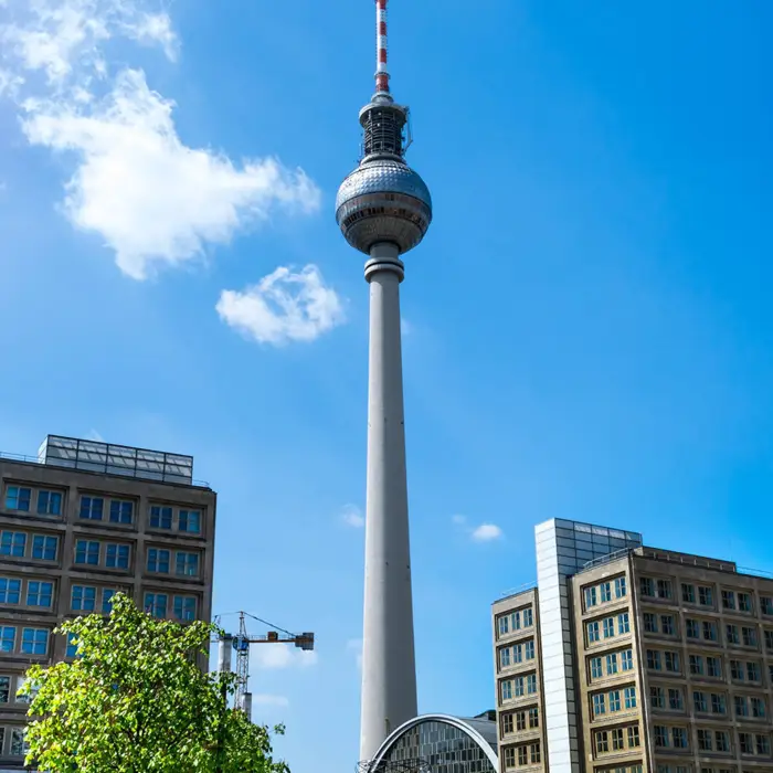
POLYGON ((585 523, 536 536, 538 586, 493 608, 501 770, 771 773, 773 578, 585 523))

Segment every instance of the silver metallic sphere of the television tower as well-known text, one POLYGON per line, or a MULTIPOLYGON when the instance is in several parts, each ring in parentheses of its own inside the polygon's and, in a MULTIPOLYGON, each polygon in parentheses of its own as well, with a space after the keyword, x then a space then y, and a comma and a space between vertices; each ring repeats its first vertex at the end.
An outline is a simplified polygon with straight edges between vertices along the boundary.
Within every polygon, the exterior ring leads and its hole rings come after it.
POLYGON ((336 220, 349 244, 366 254, 380 242, 413 250, 432 222, 432 197, 424 180, 402 159, 366 157, 343 180, 336 220))

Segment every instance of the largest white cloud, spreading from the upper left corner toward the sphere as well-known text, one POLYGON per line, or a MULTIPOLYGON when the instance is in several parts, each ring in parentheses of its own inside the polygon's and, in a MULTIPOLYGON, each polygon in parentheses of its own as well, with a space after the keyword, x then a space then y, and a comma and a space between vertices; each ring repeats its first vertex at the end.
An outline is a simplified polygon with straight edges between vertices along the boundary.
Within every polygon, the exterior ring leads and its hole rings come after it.
POLYGON ((73 159, 63 212, 98 235, 135 279, 199 258, 279 212, 316 212, 320 202, 303 170, 275 158, 235 163, 188 147, 174 103, 148 86, 145 72, 114 73, 108 43, 118 38, 176 59, 172 21, 151 3, 19 0, 0 24, 0 94, 19 105, 31 145, 73 159))

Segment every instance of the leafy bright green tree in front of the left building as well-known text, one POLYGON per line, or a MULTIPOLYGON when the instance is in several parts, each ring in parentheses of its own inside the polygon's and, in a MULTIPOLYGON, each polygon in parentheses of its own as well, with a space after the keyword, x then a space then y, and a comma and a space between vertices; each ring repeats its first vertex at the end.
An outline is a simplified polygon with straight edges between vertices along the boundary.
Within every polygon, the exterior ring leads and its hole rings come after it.
MULTIPOLYGON (((27 764, 50 773, 288 773, 268 729, 227 708, 236 678, 198 663, 216 628, 157 620, 123 594, 62 624, 73 663, 33 666, 27 764)), ((283 733, 284 728, 274 729, 283 733)))

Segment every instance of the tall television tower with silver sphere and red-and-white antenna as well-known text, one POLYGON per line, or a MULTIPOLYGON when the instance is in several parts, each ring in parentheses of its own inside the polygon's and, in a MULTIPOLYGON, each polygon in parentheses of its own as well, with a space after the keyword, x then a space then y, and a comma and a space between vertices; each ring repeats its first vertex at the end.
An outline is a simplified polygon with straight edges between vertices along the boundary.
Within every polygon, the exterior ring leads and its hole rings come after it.
POLYGON ((400 340, 404 265, 400 258, 430 227, 432 199, 404 159, 409 109, 390 94, 386 2, 375 0, 375 94, 360 110, 361 160, 336 199, 336 220, 343 235, 368 255, 364 273, 370 285, 360 760, 372 759, 389 733, 417 712, 400 340))

